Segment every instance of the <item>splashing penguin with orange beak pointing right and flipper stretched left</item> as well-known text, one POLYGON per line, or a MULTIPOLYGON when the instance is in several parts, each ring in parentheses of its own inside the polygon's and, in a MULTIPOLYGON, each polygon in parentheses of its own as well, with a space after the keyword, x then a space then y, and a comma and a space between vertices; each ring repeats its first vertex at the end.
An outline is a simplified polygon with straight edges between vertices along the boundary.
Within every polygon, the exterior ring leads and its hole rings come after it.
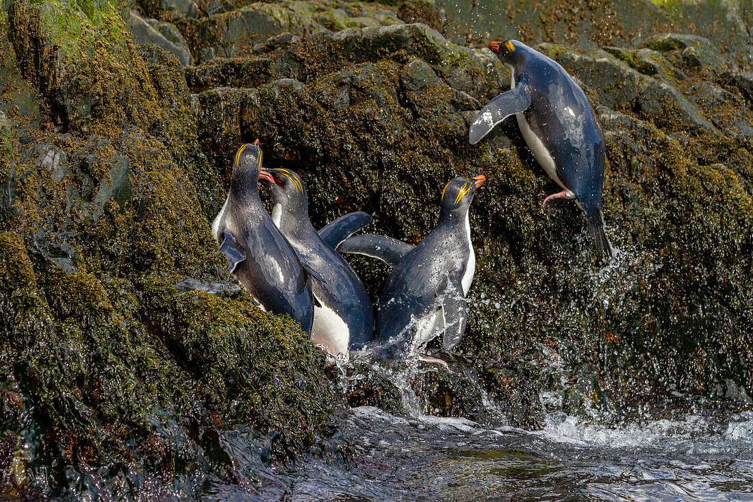
POLYGON ((373 256, 394 266, 377 307, 374 331, 374 342, 386 347, 386 355, 444 363, 422 354, 428 342, 444 333, 445 350, 459 343, 465 332, 465 295, 476 270, 468 209, 485 180, 480 174, 447 183, 439 223, 415 247, 370 234, 349 237, 337 247, 340 253, 373 256))

